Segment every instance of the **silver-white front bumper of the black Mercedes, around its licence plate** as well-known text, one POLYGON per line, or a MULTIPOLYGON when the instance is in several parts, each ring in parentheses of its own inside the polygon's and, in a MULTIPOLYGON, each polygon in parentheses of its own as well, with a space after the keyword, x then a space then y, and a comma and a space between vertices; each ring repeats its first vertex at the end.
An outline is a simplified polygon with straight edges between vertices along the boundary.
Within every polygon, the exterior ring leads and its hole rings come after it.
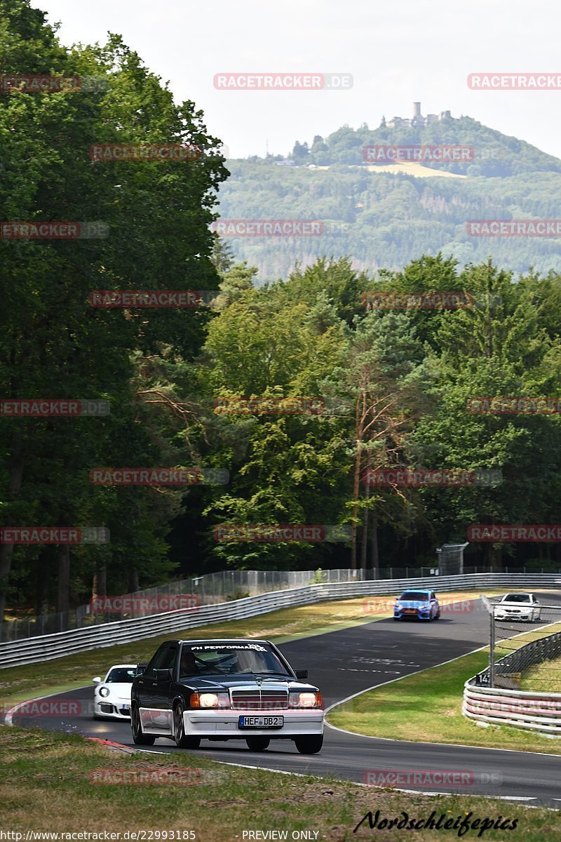
POLYGON ((247 737, 292 738, 300 735, 322 734, 324 711, 280 710, 280 711, 232 711, 189 710, 183 712, 183 727, 189 737, 221 737, 246 739, 247 737), (280 728, 241 728, 241 716, 284 717, 280 728))

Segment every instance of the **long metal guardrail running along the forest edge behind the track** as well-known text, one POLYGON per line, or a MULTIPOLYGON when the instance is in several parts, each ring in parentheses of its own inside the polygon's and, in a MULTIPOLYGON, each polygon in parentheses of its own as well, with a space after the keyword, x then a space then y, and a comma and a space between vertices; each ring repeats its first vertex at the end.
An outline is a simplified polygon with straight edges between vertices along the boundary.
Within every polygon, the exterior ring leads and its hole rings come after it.
POLYGON ((269 594, 232 600, 218 605, 200 605, 157 614, 135 620, 104 623, 56 632, 26 640, 0 643, 0 669, 20 663, 62 658, 90 649, 130 643, 146 637, 157 637, 171 632, 183 632, 210 623, 244 620, 282 608, 311 605, 325 600, 343 600, 357 596, 394 594, 406 588, 431 588, 438 590, 481 590, 511 588, 557 588, 561 586, 558 573, 475 573, 463 576, 426 576, 423 578, 377 579, 365 582, 313 584, 304 588, 273 591, 269 594), (438 586, 438 587, 437 587, 438 586))

